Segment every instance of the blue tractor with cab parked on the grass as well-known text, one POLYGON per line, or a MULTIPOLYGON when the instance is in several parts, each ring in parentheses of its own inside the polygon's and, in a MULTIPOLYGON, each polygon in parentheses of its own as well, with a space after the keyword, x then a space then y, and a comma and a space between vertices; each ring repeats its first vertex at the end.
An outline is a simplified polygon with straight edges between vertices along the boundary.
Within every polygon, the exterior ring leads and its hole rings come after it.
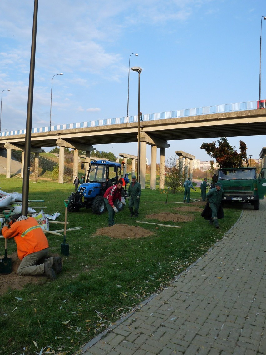
MULTIPOLYGON (((82 169, 84 163, 82 163, 82 169)), ((123 181, 121 197, 126 197, 128 174, 121 175, 121 164, 106 160, 92 160, 89 163, 89 170, 85 173, 84 184, 79 185, 78 192, 73 192, 68 197, 67 209, 69 212, 78 212, 80 208, 91 208, 94 214, 102 214, 105 211, 104 193, 118 180, 123 181)), ((121 211, 124 205, 116 200, 115 206, 121 211)))

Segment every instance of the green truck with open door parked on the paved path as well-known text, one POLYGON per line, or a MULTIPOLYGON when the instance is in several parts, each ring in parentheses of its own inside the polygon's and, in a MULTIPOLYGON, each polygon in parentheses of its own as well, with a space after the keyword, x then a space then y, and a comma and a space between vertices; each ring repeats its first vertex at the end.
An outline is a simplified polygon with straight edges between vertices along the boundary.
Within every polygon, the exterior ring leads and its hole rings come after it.
POLYGON ((256 177, 256 168, 229 168, 218 170, 218 181, 225 192, 223 202, 250 203, 259 209, 266 193, 266 169, 256 177), (265 175, 265 177, 264 177, 265 175))

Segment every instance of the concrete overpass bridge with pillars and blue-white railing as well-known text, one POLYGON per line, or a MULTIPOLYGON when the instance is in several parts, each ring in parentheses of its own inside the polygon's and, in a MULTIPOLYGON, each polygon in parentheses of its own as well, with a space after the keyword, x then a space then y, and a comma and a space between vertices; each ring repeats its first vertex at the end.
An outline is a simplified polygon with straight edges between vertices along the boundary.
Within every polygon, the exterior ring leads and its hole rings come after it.
MULTIPOLYGON (((232 136, 252 136, 266 134, 266 109, 256 109, 257 102, 228 104, 231 111, 226 111, 228 105, 206 108, 169 111, 160 114, 144 114, 140 122, 140 183, 145 187, 146 145, 151 148, 151 170, 156 171, 156 148, 160 148, 160 188, 164 188, 165 149, 170 145, 168 141, 214 138, 232 136), (223 111, 219 107, 223 106, 223 111), (232 111, 233 108, 237 111, 232 111), (244 109, 248 108, 248 109, 244 109), (202 109, 202 110, 201 110, 202 109), (215 111, 215 113, 211 113, 215 111), (171 113, 171 117, 170 117, 171 113), (203 114, 200 114, 203 113, 203 114)), ((43 147, 59 146, 59 183, 63 183, 64 147, 74 149, 73 176, 78 171, 78 150, 87 152, 86 161, 90 160, 90 152, 94 144, 127 143, 138 141, 138 116, 126 118, 80 122, 52 127, 32 129, 31 146, 35 152, 35 159, 43 147), (51 129, 51 130, 50 130, 51 129)), ((7 177, 10 177, 9 164, 11 150, 24 151, 25 130, 0 133, 0 149, 7 149, 7 177)), ((23 160, 23 157, 22 157, 23 160)), ((22 162, 23 164, 23 162, 22 162)), ((23 171, 23 167, 22 167, 23 171)), ((156 175, 156 174, 155 174, 156 175)), ((151 182, 151 189, 155 188, 151 182)))

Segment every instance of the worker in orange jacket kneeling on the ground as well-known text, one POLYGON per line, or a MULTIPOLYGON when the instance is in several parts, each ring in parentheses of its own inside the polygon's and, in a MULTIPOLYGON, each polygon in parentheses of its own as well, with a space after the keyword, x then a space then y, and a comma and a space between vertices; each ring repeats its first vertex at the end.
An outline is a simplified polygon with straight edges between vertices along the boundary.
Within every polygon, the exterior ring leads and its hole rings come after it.
POLYGON ((2 235, 7 239, 15 239, 18 258, 21 260, 18 275, 45 274, 50 280, 55 280, 55 274, 62 270, 61 257, 46 259, 48 240, 35 218, 14 214, 11 221, 5 222, 2 235))

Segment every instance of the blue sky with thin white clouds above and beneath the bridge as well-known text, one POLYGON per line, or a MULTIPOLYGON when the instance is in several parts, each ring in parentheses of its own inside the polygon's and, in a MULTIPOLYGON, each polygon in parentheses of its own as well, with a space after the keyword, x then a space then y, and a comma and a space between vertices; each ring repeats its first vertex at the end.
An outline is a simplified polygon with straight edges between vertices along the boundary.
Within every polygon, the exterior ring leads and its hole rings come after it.
MULTIPOLYGON (((33 9, 34 0, 0 2, 0 92, 10 89, 1 131, 26 128, 33 9)), ((52 125, 127 116, 131 53, 143 114, 258 100, 261 33, 266 99, 262 16, 265 0, 39 0, 32 127, 49 126, 51 83, 52 125)), ((137 114, 131 71, 129 116, 137 114)), ((219 138, 168 141, 166 159, 182 150, 210 160, 200 145, 219 138)), ((228 137, 238 151, 240 140, 253 159, 266 146, 265 136, 228 137)), ((94 147, 137 155, 136 142, 94 147)))

